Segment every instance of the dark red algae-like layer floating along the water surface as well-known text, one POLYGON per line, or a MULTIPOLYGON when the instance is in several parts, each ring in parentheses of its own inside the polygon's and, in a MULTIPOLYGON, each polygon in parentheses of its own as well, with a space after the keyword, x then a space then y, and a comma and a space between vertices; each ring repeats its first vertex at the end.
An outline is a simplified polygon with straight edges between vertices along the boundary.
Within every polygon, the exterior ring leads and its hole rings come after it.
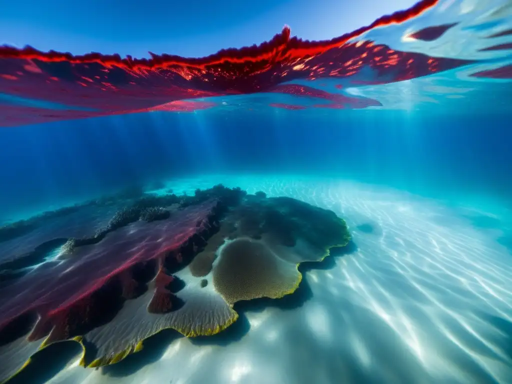
MULTIPOLYGON (((379 106, 369 97, 349 97, 293 81, 344 79, 370 69, 361 84, 413 79, 471 63, 391 49, 361 39, 372 29, 399 24, 436 6, 423 0, 408 10, 383 16, 366 27, 325 41, 290 36, 290 29, 259 46, 222 50, 203 58, 151 54, 150 59, 90 53, 40 52, 32 47, 0 47, 0 126, 149 111, 190 112, 215 106, 194 100, 213 96, 272 92, 314 98, 312 108, 360 109, 379 106), (286 84, 284 84, 286 83, 286 84)), ((441 24, 412 34, 433 41, 456 24, 441 24)), ((498 76, 503 77, 503 71, 498 76)), ((480 74, 482 75, 482 74, 480 74)), ((485 74, 483 74, 485 75, 485 74)), ((491 74, 492 75, 492 74, 491 74)), ((274 108, 302 105, 269 103, 274 108)))

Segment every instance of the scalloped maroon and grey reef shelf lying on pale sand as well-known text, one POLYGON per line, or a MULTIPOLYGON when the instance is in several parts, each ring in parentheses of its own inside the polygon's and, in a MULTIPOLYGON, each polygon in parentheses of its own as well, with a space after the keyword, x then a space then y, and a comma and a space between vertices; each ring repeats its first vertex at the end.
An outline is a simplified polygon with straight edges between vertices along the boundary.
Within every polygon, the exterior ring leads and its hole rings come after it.
POLYGON ((237 320, 234 303, 292 293, 300 263, 350 240, 330 210, 240 188, 117 198, 0 229, 0 380, 62 340, 99 367, 166 328, 216 334, 237 320))

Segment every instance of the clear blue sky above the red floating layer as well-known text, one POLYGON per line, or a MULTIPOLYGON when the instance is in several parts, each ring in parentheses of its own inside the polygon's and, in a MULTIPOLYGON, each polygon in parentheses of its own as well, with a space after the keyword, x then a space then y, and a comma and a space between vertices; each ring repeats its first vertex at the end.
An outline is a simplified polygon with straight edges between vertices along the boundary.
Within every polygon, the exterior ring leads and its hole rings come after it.
POLYGON ((199 57, 259 44, 281 31, 328 39, 414 0, 25 0, 3 2, 0 44, 83 54, 199 57), (147 6, 146 6, 147 5, 147 6))

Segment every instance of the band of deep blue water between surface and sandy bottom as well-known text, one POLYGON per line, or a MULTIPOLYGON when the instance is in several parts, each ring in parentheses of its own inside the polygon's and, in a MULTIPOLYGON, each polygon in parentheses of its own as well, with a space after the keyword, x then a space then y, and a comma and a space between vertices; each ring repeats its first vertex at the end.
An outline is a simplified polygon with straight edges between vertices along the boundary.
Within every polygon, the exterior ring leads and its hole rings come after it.
POLYGON ((0 130, 3 220, 208 173, 349 178, 437 197, 512 197, 507 115, 135 114, 0 130))

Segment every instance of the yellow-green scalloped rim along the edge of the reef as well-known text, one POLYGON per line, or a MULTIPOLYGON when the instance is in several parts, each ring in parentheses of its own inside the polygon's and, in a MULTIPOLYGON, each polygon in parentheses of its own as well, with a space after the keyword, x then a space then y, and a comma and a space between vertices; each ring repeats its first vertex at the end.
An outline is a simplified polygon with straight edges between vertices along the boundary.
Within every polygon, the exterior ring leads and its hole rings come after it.
MULTIPOLYGON (((322 255, 322 257, 318 258, 317 260, 314 260, 313 262, 317 262, 317 263, 322 262, 328 255, 330 255, 330 251, 331 251, 332 248, 345 247, 349 243, 349 241, 351 240, 351 236, 350 236, 350 233, 348 231, 348 226, 347 226, 345 220, 343 220, 342 218, 339 218, 339 217, 337 217, 337 219, 343 224, 342 228, 343 228, 343 232, 344 233, 343 233, 343 240, 342 240, 342 242, 326 247, 325 248, 325 252, 322 255)), ((294 263, 294 264, 295 264, 295 268, 296 268, 296 271, 297 271, 297 279, 294 282, 293 286, 291 288, 287 289, 286 291, 282 291, 279 295, 276 295, 276 296, 271 297, 271 298, 282 298, 282 297, 284 297, 286 295, 292 294, 293 292, 295 292, 297 290, 297 288, 299 287, 299 285, 301 284, 302 279, 303 279, 303 274, 298 270, 298 268, 302 264, 302 262, 301 263, 294 263)), ((221 297, 222 297, 222 295, 221 295, 221 297)), ((258 296, 258 297, 255 296, 253 298, 259 298, 259 297, 266 297, 266 296, 258 296)), ((83 343, 83 336, 75 336, 75 337, 70 338, 70 339, 59 340, 58 342, 48 343, 48 340, 50 338, 50 335, 49 335, 41 343, 41 345, 39 346, 38 352, 44 350, 46 347, 48 347, 48 346, 50 346, 50 345, 52 345, 54 343, 66 342, 66 341, 74 341, 74 342, 77 342, 78 344, 80 344, 80 346, 82 348, 82 355, 81 355, 80 360, 79 360, 79 365, 80 366, 86 367, 86 368, 98 368, 98 367, 102 367, 102 366, 108 366, 108 365, 116 364, 117 362, 123 360, 124 358, 126 358, 130 354, 141 351, 144 348, 144 346, 143 346, 144 340, 146 340, 147 338, 150 338, 150 337, 152 337, 152 336, 154 336, 154 335, 156 335, 156 334, 158 334, 161 331, 166 330, 166 329, 174 329, 177 332, 179 332, 182 335, 184 335, 185 337, 212 336, 212 335, 215 335, 217 333, 222 332, 223 330, 225 330, 226 328, 231 326, 234 322, 236 322, 237 319, 239 318, 238 312, 233 309, 233 305, 235 303, 229 303, 228 301, 225 300, 224 297, 223 297, 223 300, 230 307, 231 317, 229 317, 229 319, 228 319, 228 321, 226 323, 221 324, 221 325, 216 325, 214 328, 207 328, 207 329, 204 330, 204 332, 196 332, 194 330, 185 330, 184 328, 178 329, 178 328, 174 328, 174 327, 163 327, 163 328, 159 329, 158 331, 147 335, 146 337, 142 338, 141 340, 138 340, 136 344, 131 345, 130 347, 120 351, 119 353, 117 353, 117 354, 115 354, 113 356, 110 356, 110 357, 102 356, 102 357, 96 358, 92 362, 90 362, 89 364, 86 361, 87 348, 86 348, 86 346, 83 343)), ((12 379, 14 376, 16 376, 17 374, 22 372, 26 367, 28 367, 30 365, 31 360, 32 360, 32 358, 29 357, 27 359, 27 361, 25 362, 25 364, 16 373, 13 374, 12 376, 10 376, 9 378, 7 378, 5 381, 3 381, 2 384, 6 383, 10 379, 12 379)))

